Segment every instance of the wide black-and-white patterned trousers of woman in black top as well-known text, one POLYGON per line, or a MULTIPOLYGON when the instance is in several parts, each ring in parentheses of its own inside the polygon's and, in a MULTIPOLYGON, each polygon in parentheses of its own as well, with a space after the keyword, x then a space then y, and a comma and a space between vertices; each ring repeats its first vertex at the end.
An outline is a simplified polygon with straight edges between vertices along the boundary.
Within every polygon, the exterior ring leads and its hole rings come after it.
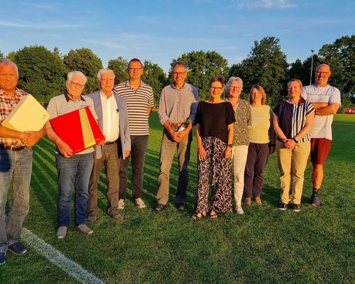
POLYGON ((212 180, 212 204, 210 210, 231 212, 231 158, 224 158, 226 143, 221 139, 202 137, 206 158, 198 161, 198 183, 195 209, 197 213, 207 212, 209 180, 212 180), (212 176, 211 176, 212 174, 212 176))

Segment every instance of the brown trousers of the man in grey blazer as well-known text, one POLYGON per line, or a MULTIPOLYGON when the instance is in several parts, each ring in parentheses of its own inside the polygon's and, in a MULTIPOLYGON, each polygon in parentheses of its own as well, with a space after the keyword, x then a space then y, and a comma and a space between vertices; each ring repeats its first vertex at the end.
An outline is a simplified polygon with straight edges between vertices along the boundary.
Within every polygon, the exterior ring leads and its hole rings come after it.
POLYGON ((87 202, 87 211, 90 215, 99 214, 97 183, 102 168, 105 169, 107 175, 107 213, 110 216, 116 214, 117 207, 119 207, 119 162, 116 143, 102 146, 102 158, 94 159, 89 181, 89 202, 87 202))

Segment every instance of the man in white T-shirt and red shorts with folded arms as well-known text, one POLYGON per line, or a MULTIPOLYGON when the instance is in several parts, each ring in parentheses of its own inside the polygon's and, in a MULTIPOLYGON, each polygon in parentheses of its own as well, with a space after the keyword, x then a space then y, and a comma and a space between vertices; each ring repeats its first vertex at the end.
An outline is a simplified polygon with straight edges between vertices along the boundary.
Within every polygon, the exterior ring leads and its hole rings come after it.
POLYGON ((327 159, 332 143, 333 116, 340 107, 340 92, 328 84, 331 75, 327 64, 318 65, 315 70, 315 84, 303 87, 302 97, 315 107, 315 120, 310 132, 312 186, 313 192, 310 203, 313 207, 320 205, 318 192, 323 180, 323 165, 327 159))

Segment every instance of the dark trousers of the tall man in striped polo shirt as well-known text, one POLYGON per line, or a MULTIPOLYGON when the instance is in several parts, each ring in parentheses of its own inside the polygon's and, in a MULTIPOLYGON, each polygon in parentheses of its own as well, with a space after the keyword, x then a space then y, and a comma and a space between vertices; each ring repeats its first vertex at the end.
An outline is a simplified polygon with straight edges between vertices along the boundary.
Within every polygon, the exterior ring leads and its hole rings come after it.
POLYGON ((137 199, 143 194, 143 168, 148 148, 148 135, 131 136, 131 153, 129 157, 121 160, 119 166, 119 199, 126 199, 127 191, 127 172, 129 168, 129 160, 132 165, 132 195, 133 199, 137 199))

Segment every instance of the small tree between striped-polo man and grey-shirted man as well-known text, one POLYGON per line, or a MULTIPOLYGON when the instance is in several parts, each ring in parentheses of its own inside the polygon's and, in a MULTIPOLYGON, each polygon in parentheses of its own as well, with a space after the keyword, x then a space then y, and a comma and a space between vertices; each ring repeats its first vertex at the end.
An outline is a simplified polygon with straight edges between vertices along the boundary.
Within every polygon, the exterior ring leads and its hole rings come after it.
POLYGON ((154 103, 159 104, 161 89, 168 84, 166 74, 158 64, 145 60, 143 63, 144 73, 142 76, 143 82, 153 88, 154 103))

